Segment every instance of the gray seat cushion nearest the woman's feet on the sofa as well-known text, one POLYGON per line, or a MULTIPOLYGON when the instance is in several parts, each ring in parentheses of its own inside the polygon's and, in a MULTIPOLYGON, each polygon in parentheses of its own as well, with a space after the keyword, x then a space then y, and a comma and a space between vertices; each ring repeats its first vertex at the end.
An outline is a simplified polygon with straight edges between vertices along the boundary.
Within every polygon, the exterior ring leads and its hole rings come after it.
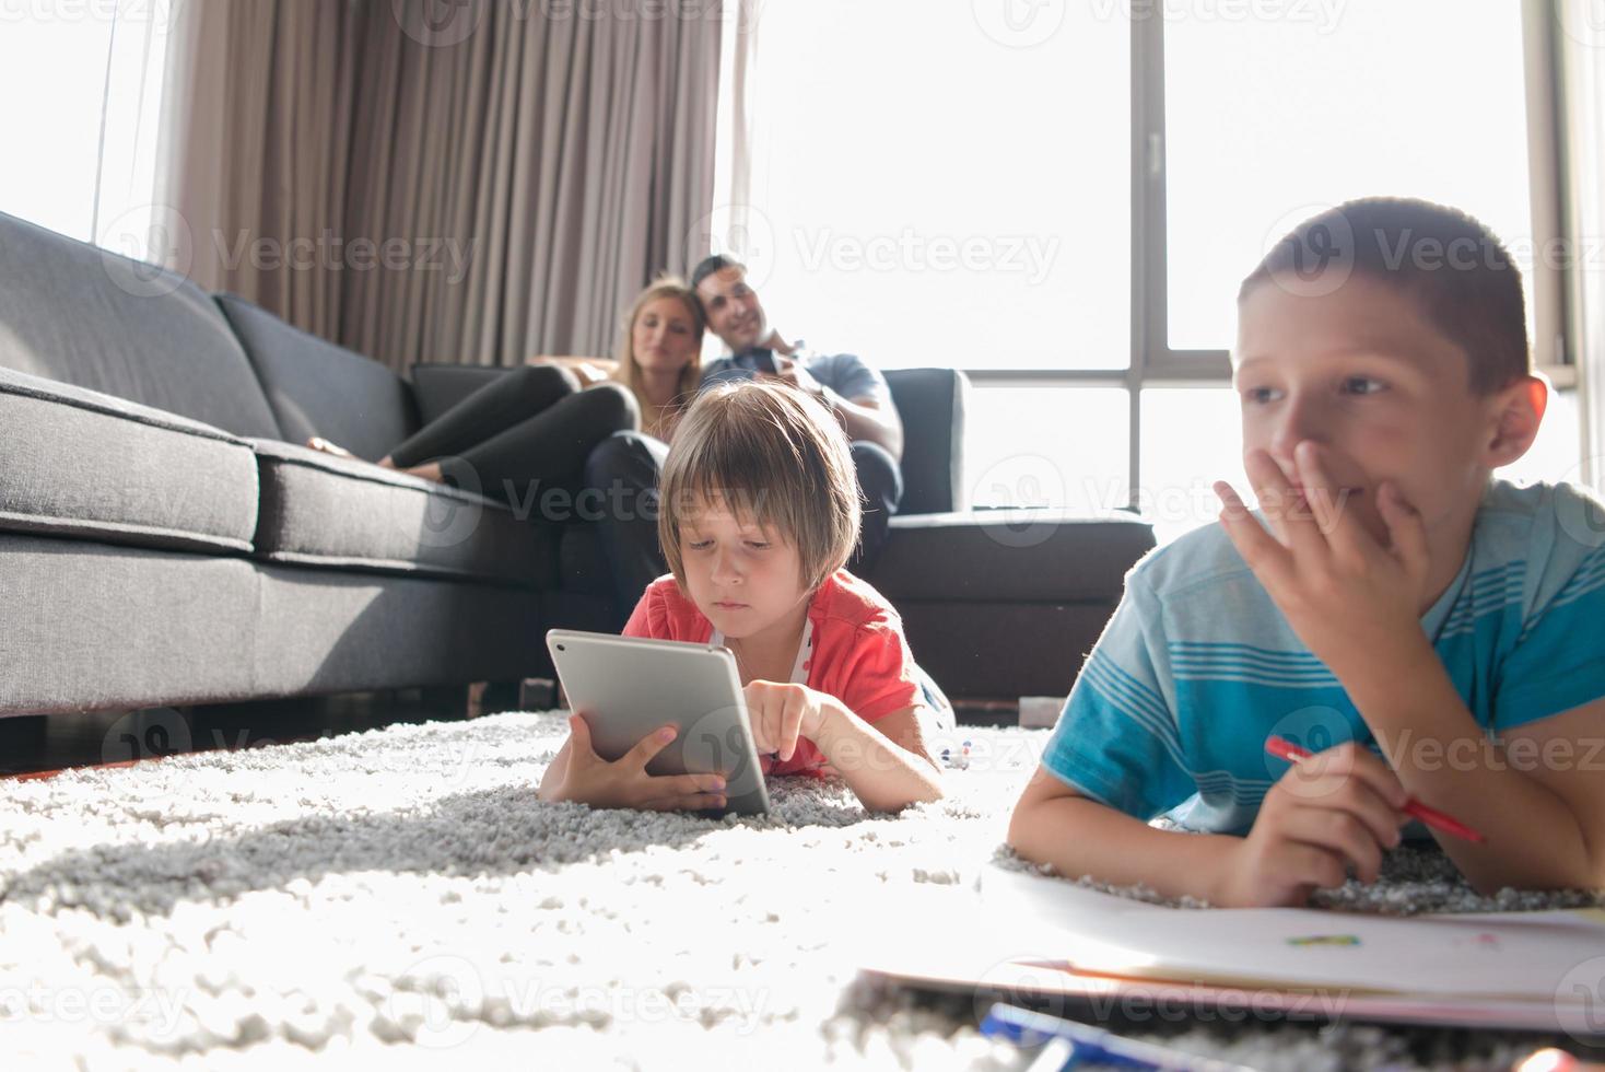
POLYGON ((273 562, 510 584, 551 583, 538 525, 493 499, 254 440, 262 473, 257 554, 273 562))

